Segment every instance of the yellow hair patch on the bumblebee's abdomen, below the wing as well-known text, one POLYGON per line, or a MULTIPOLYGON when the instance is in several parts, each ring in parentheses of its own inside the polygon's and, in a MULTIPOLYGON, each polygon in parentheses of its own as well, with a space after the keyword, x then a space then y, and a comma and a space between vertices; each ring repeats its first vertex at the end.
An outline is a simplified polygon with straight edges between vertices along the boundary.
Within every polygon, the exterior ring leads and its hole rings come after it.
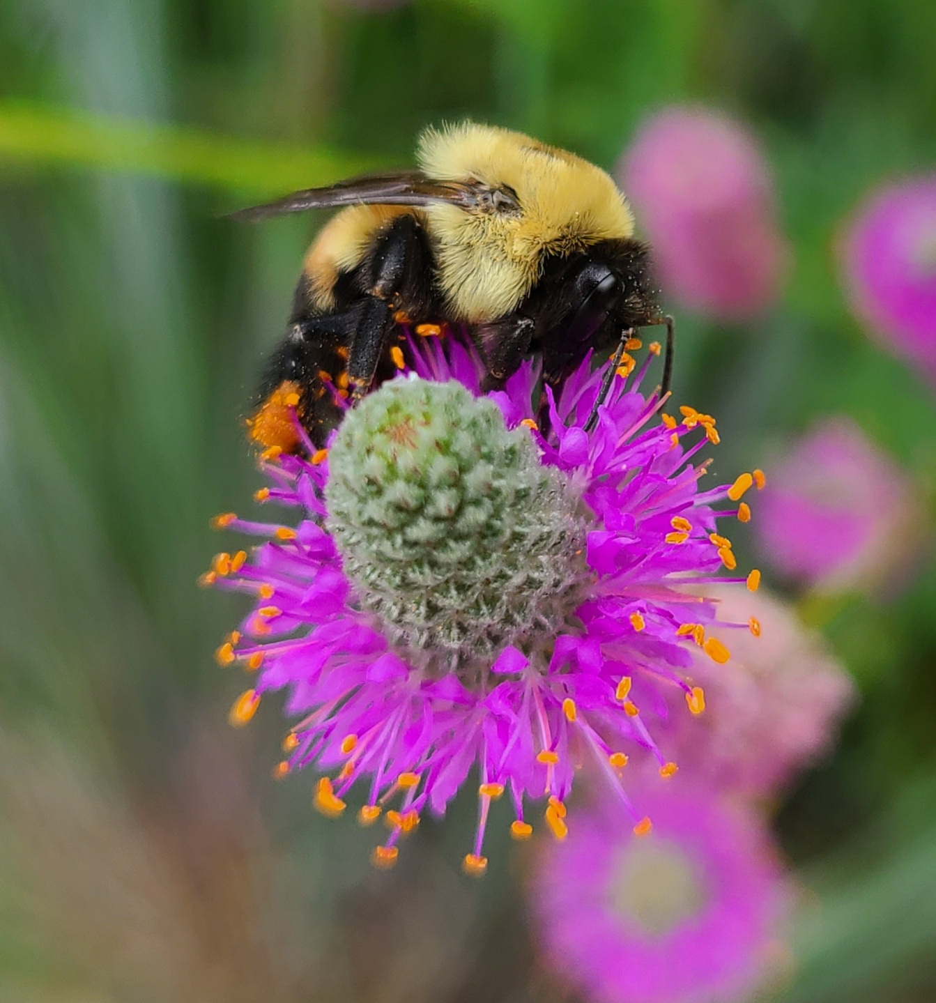
POLYGON ((349 206, 329 220, 306 252, 302 266, 315 306, 323 312, 333 310, 338 276, 361 263, 384 227, 417 212, 408 206, 349 206))

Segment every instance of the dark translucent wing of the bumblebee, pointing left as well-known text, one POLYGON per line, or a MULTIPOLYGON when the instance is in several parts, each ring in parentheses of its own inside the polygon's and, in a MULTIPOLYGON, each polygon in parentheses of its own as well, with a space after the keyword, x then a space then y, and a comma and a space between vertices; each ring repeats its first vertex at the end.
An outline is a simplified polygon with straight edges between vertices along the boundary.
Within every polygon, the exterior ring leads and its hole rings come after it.
POLYGON ((310 209, 334 209, 340 206, 427 206, 447 202, 469 209, 478 201, 475 186, 458 182, 430 181, 418 171, 390 175, 369 175, 338 182, 327 188, 294 192, 284 199, 242 209, 236 220, 266 220, 284 213, 305 213, 310 209))

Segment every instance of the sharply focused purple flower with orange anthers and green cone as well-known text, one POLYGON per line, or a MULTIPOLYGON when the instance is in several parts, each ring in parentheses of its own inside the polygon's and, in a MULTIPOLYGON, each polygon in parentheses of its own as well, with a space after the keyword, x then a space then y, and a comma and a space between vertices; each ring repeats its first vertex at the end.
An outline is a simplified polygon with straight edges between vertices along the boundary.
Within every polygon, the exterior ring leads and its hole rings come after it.
MULTIPOLYGON (((526 804, 542 799, 563 839, 585 761, 646 824, 623 789, 626 750, 675 770, 647 720, 666 690, 682 694, 682 713, 704 706, 685 625, 703 629, 715 607, 685 589, 734 567, 715 531, 746 518, 752 475, 701 490, 707 463, 693 460, 717 441, 714 419, 661 414, 639 389, 647 364, 634 372, 630 357, 588 429, 607 366, 586 360, 557 397, 526 363, 484 395, 473 352, 404 345, 409 367, 394 348, 406 371, 347 410, 327 449, 262 457, 269 486, 257 497, 287 523, 216 521, 262 541, 220 555, 207 576, 256 597, 218 652, 258 673, 232 720, 284 689, 296 720, 279 772, 314 768, 327 814, 349 796, 363 824, 382 813, 377 865, 393 863, 424 809, 444 812, 473 768, 469 873, 485 870, 489 809, 504 793, 515 838, 531 834, 526 804)), ((747 581, 755 588, 756 573, 747 581)), ((714 638, 704 650, 729 657, 714 638)))

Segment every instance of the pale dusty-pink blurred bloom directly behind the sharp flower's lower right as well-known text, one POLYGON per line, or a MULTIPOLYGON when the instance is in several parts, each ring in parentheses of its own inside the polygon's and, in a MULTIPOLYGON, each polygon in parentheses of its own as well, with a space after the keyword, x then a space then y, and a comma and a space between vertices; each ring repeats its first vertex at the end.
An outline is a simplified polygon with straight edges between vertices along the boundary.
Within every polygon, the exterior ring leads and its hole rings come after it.
MULTIPOLYGON (((851 677, 816 632, 778 599, 711 586, 716 623, 705 628, 731 652, 709 668, 699 658, 693 682, 705 711, 670 703, 660 745, 680 774, 748 796, 766 796, 828 752, 855 700, 851 677)), ((654 764, 655 765, 655 764, 654 764)))

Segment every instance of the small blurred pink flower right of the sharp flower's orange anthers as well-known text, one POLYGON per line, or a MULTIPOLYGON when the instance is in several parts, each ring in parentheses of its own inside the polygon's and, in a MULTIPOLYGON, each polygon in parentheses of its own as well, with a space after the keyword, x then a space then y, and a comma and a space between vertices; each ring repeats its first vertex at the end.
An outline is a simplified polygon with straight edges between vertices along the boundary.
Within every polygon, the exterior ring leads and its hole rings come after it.
POLYGON ((821 422, 772 466, 753 525, 776 569, 823 593, 906 577, 920 548, 914 486, 855 422, 821 422))

